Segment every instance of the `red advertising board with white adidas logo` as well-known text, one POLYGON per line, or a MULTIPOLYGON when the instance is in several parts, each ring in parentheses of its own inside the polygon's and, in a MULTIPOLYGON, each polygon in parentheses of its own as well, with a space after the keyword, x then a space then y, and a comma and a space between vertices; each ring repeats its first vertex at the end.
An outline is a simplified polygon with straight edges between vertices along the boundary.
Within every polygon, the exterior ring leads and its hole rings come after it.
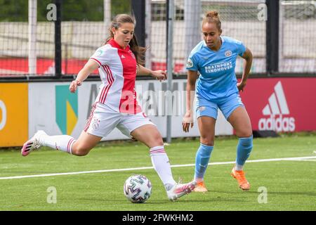
POLYGON ((316 130, 316 77, 248 79, 240 95, 254 130, 316 130))

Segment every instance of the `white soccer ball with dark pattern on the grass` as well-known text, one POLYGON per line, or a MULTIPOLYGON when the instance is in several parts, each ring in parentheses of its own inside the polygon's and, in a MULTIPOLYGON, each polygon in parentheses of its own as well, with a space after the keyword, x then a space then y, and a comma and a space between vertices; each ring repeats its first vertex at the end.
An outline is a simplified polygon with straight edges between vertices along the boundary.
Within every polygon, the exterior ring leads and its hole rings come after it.
POLYGON ((124 195, 132 203, 145 203, 152 194, 152 184, 146 176, 133 175, 126 179, 124 195))

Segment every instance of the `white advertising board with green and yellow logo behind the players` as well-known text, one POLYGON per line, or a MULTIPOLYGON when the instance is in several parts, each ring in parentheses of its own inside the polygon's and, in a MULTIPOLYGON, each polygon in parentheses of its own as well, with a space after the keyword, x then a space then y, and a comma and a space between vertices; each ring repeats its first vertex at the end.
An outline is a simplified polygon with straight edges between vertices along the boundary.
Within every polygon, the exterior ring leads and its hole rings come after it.
MULTIPOLYGON (((100 82, 84 82, 76 94, 70 93, 70 82, 29 83, 29 137, 42 129, 49 135, 67 134, 78 138, 90 115, 91 105, 96 100, 100 82)), ((157 124, 166 137, 166 115, 172 115, 171 136, 199 136, 197 121, 190 132, 182 130, 185 113, 185 79, 173 80, 173 91, 166 91, 166 82, 156 80, 136 81, 138 103, 148 117, 157 124), (169 98, 170 97, 170 98, 169 98), (171 101, 173 99, 173 101, 171 101), (169 108, 172 110, 168 110, 169 108)), ((218 113, 216 135, 230 135, 232 127, 218 113)), ((128 139, 114 129, 103 141, 128 139)))

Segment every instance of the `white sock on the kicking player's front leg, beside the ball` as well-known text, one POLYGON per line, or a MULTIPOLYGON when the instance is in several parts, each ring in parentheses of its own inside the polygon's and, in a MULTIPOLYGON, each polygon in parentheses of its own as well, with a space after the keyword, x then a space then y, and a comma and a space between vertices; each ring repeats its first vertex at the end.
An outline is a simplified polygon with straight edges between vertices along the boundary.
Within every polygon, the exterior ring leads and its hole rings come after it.
POLYGON ((164 146, 156 146, 150 148, 150 157, 152 158, 152 165, 159 175, 166 191, 169 191, 176 181, 173 179, 169 158, 164 151, 164 146))

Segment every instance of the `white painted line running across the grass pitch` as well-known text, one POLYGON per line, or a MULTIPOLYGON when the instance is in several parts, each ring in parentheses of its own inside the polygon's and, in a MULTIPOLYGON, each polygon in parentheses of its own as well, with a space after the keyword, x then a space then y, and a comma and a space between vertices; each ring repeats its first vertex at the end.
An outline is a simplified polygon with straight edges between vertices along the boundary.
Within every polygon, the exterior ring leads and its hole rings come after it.
MULTIPOLYGON (((296 157, 296 158, 275 158, 275 159, 265 159, 265 160, 247 160, 249 162, 274 162, 274 161, 293 161, 293 160, 311 160, 316 159, 316 156, 308 157, 296 157)), ((226 165, 235 164, 235 161, 231 162, 210 162, 209 165, 226 165)), ((185 164, 185 165, 171 165, 171 167, 193 167, 195 164, 185 164)), ((4 176, 0 177, 0 180, 6 179, 22 179, 22 178, 32 178, 32 177, 42 177, 42 176, 61 176, 61 175, 74 175, 74 174, 95 174, 95 173, 105 173, 105 172, 121 172, 121 171, 133 171, 140 169, 154 169, 154 167, 136 167, 136 168, 125 168, 125 169, 104 169, 104 170, 91 170, 91 171, 81 171, 81 172, 67 172, 67 173, 55 173, 55 174, 34 174, 26 176, 4 176)))

